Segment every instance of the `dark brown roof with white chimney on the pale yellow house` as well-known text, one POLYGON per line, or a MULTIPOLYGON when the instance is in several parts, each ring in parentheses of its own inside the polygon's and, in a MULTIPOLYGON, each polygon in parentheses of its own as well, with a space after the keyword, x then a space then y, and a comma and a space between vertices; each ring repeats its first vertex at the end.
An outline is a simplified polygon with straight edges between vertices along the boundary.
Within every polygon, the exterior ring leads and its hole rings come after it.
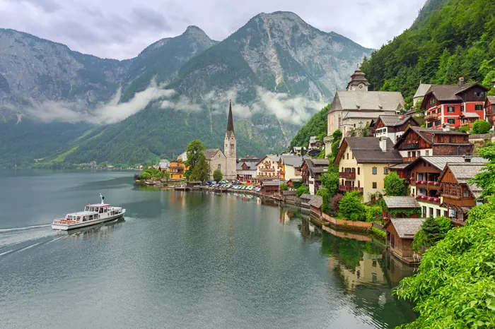
POLYGON ((376 137, 344 137, 340 144, 339 152, 334 159, 338 164, 342 155, 349 146, 358 163, 402 163, 402 155, 394 149, 394 143, 387 138, 385 152, 380 148, 380 138, 376 137))

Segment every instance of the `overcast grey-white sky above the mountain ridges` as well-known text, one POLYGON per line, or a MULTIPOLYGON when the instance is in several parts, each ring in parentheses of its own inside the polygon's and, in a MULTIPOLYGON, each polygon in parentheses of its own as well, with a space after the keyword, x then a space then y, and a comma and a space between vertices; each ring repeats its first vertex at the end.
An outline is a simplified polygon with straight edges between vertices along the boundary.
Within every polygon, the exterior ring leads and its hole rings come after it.
POLYGON ((197 25, 223 40, 257 13, 293 11, 320 30, 379 48, 416 18, 425 0, 0 0, 13 28, 100 57, 128 59, 197 25))

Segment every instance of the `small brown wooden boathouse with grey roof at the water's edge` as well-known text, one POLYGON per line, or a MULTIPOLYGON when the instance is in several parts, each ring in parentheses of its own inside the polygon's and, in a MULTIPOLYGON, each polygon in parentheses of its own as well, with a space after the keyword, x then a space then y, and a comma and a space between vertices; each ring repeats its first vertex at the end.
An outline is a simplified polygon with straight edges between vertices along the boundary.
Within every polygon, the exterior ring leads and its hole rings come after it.
POLYGON ((414 259, 412 241, 423 222, 424 218, 391 218, 385 222, 383 228, 387 234, 387 246, 400 261, 418 263, 417 259, 414 259))

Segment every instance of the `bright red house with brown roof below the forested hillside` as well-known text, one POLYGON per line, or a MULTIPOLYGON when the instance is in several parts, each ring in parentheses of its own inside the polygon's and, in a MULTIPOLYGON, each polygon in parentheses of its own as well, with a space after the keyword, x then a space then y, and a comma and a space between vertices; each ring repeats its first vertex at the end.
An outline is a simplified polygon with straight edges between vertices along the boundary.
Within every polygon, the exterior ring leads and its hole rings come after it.
POLYGON ((478 83, 465 85, 459 78, 458 85, 431 85, 424 95, 421 109, 425 112, 426 128, 441 128, 450 124, 452 128, 461 126, 461 114, 474 119, 476 114, 484 120, 484 96, 489 89, 478 83))

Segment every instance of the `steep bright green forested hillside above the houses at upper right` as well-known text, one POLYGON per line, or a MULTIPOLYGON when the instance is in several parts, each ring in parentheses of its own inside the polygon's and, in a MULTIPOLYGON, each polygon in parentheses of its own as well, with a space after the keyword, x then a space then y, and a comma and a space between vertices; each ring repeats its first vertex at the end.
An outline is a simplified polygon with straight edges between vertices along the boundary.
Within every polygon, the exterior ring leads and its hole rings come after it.
MULTIPOLYGON (((411 28, 373 52, 361 69, 373 90, 400 91, 407 104, 419 81, 495 80, 495 2, 429 0, 411 28)), ((495 95, 495 90, 491 90, 495 95)))

